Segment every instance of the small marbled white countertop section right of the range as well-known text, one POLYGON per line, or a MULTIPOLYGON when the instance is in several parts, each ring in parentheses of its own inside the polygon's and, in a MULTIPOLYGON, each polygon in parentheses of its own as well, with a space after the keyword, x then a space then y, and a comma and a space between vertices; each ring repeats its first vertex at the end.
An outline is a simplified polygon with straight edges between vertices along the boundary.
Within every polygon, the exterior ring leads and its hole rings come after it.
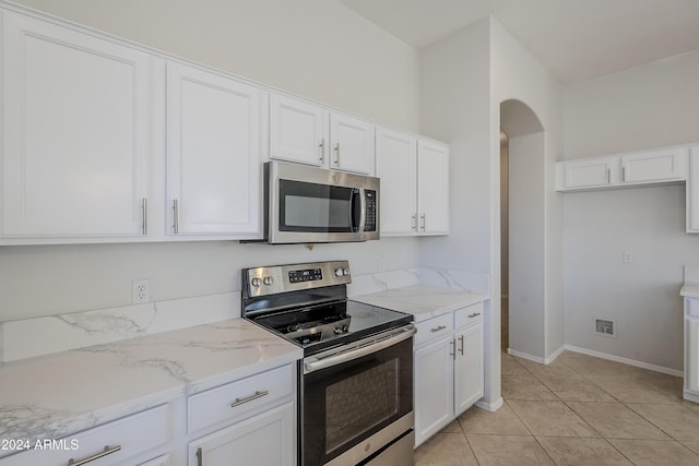
POLYGON ((415 285, 353 296, 351 299, 380 308, 407 312, 415 316, 417 323, 486 301, 488 296, 452 288, 415 285))

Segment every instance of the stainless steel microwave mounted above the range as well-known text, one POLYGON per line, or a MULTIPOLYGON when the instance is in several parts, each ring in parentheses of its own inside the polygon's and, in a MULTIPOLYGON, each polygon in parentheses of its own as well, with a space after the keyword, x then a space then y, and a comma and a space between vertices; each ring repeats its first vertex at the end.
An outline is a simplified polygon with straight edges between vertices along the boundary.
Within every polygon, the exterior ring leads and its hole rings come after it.
POLYGON ((379 239, 379 179, 300 164, 268 162, 265 241, 379 239))

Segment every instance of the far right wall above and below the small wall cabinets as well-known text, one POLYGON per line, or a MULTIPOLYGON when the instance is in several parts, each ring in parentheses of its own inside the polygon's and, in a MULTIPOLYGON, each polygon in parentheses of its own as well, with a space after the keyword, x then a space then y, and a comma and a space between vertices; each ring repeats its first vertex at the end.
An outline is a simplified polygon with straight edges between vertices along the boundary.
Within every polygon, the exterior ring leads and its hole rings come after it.
MULTIPOLYGON (((698 82, 694 51, 568 86, 565 157, 699 141, 698 82)), ((566 343, 682 371, 683 265, 699 261, 684 184, 569 193, 564 212, 566 343)))

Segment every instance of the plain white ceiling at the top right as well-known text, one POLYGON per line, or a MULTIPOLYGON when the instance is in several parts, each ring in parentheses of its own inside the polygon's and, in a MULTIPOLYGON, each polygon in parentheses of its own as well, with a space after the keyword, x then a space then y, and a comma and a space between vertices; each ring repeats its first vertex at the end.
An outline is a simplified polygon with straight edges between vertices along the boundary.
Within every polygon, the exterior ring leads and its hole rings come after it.
POLYGON ((494 15, 562 83, 699 49, 699 0, 340 0, 417 49, 494 15))

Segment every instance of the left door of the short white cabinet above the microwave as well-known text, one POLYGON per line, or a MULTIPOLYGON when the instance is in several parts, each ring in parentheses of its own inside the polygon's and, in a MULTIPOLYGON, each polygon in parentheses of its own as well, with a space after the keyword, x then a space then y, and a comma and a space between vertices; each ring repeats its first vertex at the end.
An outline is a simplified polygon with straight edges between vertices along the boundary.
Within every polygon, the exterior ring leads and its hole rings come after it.
POLYGON ((270 157, 323 166, 323 110, 303 100, 270 95, 270 157))

